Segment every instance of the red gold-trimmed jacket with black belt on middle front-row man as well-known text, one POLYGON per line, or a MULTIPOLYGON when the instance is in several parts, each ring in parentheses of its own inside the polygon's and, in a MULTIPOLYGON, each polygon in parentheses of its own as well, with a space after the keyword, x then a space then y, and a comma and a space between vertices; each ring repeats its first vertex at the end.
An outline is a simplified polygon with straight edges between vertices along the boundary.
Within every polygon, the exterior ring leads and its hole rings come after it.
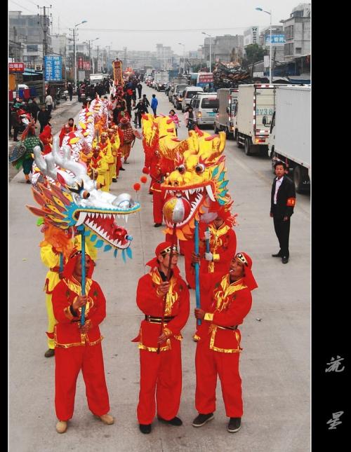
MULTIPOLYGON (((138 308, 146 315, 161 317, 164 310, 164 296, 158 294, 157 289, 161 284, 161 276, 157 268, 140 278, 136 293, 136 303, 138 308)), ((189 289, 186 282, 179 275, 179 270, 175 268, 170 280, 170 288, 166 299, 166 317, 174 317, 173 320, 165 324, 165 329, 171 331, 171 338, 179 341, 182 339, 180 330, 185 326, 189 317, 189 289)), ((161 335, 161 324, 143 320, 140 324, 138 337, 133 342, 139 342, 139 348, 150 352, 157 351, 157 338, 161 335)), ((171 341, 168 338, 160 350, 171 348, 171 341)))

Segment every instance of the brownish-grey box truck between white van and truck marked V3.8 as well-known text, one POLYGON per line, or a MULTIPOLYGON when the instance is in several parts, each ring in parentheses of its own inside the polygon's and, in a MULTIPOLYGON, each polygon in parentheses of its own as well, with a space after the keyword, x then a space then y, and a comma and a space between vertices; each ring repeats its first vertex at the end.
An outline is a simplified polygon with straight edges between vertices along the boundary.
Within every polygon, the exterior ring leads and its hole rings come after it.
POLYGON ((223 130, 227 134, 227 138, 237 137, 237 121, 235 118, 235 107, 238 100, 237 88, 220 88, 217 90, 218 95, 218 113, 215 118, 215 133, 223 130))

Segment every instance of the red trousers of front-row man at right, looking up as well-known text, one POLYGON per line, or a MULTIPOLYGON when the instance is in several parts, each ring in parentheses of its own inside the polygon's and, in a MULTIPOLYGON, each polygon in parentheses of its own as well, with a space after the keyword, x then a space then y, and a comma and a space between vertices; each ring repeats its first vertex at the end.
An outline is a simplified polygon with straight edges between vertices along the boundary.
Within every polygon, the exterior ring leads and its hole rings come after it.
POLYGON ((228 418, 241 418, 241 378, 239 374, 239 353, 215 352, 209 348, 210 336, 197 343, 195 367, 197 388, 195 407, 201 414, 216 411, 217 375, 222 386, 225 413, 228 418))

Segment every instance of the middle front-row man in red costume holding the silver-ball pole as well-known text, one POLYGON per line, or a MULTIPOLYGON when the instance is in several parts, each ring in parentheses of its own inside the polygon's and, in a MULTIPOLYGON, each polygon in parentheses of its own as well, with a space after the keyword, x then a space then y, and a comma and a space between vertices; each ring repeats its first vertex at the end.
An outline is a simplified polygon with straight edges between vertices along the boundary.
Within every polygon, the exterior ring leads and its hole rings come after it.
POLYGON ((147 263, 150 273, 138 282, 136 302, 145 314, 138 337, 140 349, 140 392, 138 422, 140 432, 150 433, 157 418, 171 425, 182 425, 176 417, 182 391, 180 330, 189 317, 189 290, 177 267, 176 245, 162 242, 155 249, 156 257, 147 263), (171 278, 166 279, 171 260, 171 278), (164 321, 162 323, 162 320, 164 321))

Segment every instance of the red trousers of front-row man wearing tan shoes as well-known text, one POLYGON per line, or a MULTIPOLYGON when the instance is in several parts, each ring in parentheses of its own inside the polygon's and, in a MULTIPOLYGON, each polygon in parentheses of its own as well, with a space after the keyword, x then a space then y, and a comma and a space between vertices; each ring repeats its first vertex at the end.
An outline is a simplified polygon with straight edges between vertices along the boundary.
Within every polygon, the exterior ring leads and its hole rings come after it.
POLYGON ((55 348, 55 409, 59 420, 73 416, 79 371, 86 385, 88 407, 95 416, 110 411, 101 343, 55 348))

